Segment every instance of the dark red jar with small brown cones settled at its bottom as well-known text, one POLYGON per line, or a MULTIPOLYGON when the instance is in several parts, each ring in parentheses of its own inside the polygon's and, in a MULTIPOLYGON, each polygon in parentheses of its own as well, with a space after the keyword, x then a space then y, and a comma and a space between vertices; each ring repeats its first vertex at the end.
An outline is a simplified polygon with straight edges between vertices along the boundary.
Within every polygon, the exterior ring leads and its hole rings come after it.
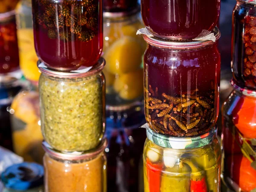
POLYGON ((221 58, 216 41, 164 41, 143 35, 145 116, 158 133, 190 137, 214 127, 221 58))

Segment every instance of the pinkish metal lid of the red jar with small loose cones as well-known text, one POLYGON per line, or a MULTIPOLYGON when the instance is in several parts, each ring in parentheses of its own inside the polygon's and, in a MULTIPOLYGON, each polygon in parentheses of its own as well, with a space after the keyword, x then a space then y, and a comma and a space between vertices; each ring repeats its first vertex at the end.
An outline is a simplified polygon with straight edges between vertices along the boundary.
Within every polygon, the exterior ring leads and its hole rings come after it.
POLYGON ((143 38, 148 44, 154 47, 160 47, 165 49, 198 49, 201 47, 206 47, 215 44, 216 41, 218 41, 218 39, 221 36, 221 32, 219 31, 218 27, 215 27, 212 32, 214 33, 214 36, 216 38, 215 42, 212 40, 175 41, 157 37, 149 37, 148 35, 143 35, 143 38))

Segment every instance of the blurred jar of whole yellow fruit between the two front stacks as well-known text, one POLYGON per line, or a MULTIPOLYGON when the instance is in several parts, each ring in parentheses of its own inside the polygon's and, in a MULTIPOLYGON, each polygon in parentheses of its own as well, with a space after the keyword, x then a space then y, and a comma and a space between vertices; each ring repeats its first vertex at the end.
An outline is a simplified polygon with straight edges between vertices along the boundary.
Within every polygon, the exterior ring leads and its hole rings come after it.
POLYGON ((138 9, 104 14, 104 54, 106 104, 130 105, 143 99, 142 58, 146 43, 137 29, 142 28, 138 9))

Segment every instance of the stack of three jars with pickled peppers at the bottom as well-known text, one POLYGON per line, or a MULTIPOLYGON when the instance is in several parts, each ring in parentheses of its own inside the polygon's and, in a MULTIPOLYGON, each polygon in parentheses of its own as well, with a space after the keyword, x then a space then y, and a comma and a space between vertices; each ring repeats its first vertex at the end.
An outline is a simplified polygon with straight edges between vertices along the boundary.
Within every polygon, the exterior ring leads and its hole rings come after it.
POLYGON ((141 0, 141 8, 145 192, 218 192, 220 0, 141 0))

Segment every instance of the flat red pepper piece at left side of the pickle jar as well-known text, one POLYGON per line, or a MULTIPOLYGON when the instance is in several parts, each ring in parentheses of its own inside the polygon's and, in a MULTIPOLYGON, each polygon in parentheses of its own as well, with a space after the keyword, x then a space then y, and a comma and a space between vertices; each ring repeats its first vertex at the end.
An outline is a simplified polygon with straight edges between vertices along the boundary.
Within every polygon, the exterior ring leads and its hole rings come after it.
POLYGON ((149 192, 160 192, 162 163, 153 164, 148 158, 146 160, 149 192))

